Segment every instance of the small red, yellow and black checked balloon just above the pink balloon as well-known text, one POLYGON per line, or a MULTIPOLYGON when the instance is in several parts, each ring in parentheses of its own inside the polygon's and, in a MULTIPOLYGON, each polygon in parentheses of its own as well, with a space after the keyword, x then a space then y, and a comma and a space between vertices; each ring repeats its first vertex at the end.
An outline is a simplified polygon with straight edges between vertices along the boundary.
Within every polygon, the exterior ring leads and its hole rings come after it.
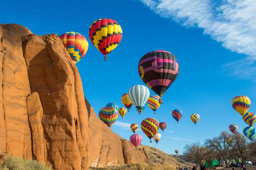
POLYGON ((141 122, 141 129, 145 133, 145 135, 150 139, 150 143, 152 143, 152 138, 155 136, 159 129, 159 123, 154 118, 146 118, 141 122))

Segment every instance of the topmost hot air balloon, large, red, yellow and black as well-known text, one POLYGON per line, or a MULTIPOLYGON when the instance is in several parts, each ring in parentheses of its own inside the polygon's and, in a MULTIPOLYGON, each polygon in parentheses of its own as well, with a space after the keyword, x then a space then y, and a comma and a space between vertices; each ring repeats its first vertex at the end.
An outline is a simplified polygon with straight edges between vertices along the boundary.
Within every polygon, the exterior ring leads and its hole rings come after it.
POLYGON ((121 26, 112 19, 98 19, 91 24, 89 37, 93 45, 104 55, 114 50, 122 39, 121 26))

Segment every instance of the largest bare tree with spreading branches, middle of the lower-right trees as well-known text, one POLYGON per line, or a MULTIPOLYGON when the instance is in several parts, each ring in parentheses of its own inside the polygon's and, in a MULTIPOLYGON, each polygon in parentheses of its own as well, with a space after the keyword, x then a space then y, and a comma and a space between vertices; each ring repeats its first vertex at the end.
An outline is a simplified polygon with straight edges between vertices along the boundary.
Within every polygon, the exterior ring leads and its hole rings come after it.
POLYGON ((205 145, 210 150, 215 150, 219 152, 225 161, 226 168, 228 168, 228 164, 232 160, 231 158, 233 158, 234 154, 232 151, 234 145, 232 142, 231 135, 229 135, 228 132, 223 131, 221 132, 221 135, 214 137, 213 139, 205 140, 205 145))

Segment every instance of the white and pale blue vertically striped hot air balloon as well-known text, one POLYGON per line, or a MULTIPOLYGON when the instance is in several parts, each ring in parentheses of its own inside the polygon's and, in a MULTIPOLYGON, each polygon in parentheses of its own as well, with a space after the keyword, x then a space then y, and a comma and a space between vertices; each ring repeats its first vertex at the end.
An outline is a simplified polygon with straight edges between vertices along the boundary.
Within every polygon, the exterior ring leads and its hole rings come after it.
POLYGON ((148 88, 143 85, 134 85, 129 89, 129 99, 136 109, 139 110, 139 114, 141 113, 141 110, 143 111, 143 106, 147 102, 149 95, 150 92, 148 88))

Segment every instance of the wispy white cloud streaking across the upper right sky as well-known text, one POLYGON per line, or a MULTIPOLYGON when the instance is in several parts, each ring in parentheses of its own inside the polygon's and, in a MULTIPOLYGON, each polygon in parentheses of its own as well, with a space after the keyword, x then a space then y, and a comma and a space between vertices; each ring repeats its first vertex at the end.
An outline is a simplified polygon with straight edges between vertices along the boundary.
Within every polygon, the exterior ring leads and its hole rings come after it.
POLYGON ((256 64, 255 0, 140 1, 161 17, 170 18, 185 27, 201 28, 204 34, 221 42, 226 49, 246 54, 248 57, 242 62, 236 61, 227 66, 236 70, 232 74, 239 75, 242 71, 246 72, 246 78, 256 78, 256 68, 253 67, 256 64))

